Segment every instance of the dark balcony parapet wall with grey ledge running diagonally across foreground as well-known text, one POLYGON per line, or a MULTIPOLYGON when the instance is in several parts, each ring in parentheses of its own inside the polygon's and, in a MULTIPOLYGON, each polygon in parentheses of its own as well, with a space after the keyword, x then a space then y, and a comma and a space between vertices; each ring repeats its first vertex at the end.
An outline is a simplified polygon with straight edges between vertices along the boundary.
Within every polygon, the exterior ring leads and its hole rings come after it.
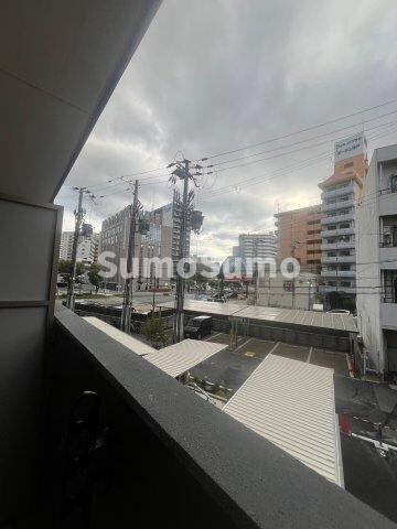
POLYGON ((74 520, 67 527, 81 527, 82 512, 82 527, 92 529, 394 527, 66 309, 57 315, 52 373, 57 464, 49 465, 50 488, 61 522, 74 520), (63 454, 86 390, 99 398, 97 431, 108 429, 108 443, 82 509, 63 454))

